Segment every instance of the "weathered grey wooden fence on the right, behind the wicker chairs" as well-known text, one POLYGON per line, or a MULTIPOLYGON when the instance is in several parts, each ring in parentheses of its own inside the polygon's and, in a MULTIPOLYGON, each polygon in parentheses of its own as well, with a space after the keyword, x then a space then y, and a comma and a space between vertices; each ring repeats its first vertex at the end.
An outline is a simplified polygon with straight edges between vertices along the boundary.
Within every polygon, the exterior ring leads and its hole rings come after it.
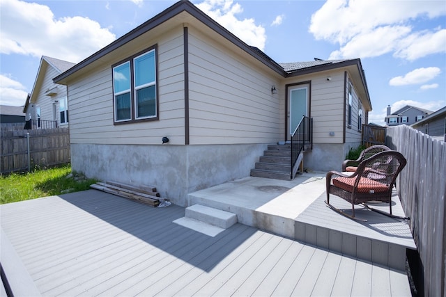
POLYGON ((408 161, 397 185, 422 261, 424 296, 445 296, 446 145, 406 125, 387 128, 386 138, 408 161))

